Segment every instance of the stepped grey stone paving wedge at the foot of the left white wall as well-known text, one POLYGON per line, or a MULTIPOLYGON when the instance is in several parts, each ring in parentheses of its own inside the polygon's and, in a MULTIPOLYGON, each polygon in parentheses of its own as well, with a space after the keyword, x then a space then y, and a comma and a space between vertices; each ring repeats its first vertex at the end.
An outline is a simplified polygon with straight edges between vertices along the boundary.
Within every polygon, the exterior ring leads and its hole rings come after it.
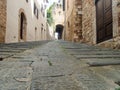
POLYGON ((34 48, 47 42, 48 41, 0 44, 0 59, 2 60, 4 58, 11 57, 14 54, 23 52, 27 49, 34 48))

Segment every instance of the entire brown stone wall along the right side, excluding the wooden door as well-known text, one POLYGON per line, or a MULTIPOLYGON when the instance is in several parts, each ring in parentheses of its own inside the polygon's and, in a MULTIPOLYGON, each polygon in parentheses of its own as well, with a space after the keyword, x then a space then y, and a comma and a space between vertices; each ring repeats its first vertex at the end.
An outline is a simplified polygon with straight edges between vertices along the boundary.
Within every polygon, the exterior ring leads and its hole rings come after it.
MULTIPOLYGON (((67 0, 66 0, 67 1, 67 0)), ((66 11, 66 40, 107 47, 120 48, 120 0, 112 0, 113 38, 97 44, 96 6, 94 0, 69 0, 70 10, 66 11), (77 5, 81 2, 81 16, 78 16, 77 5), (82 28, 82 29, 81 29, 82 28)), ((66 5, 67 6, 67 5, 66 5)))

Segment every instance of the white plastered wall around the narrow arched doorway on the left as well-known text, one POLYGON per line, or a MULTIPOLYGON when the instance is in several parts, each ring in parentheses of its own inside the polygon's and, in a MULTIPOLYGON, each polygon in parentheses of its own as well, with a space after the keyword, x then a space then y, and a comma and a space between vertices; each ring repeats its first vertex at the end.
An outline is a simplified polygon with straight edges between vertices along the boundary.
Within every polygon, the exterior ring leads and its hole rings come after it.
MULTIPOLYGON (((35 41, 41 39, 41 24, 46 30, 46 19, 42 16, 40 6, 37 0, 7 0, 7 25, 6 25, 6 43, 19 41, 19 10, 24 10, 27 19, 26 41, 35 41), (39 19, 33 13, 34 2, 39 9, 39 19), (37 27, 35 33, 35 27, 37 27), (35 36, 36 34, 36 36, 35 36)), ((43 38, 44 39, 44 38, 43 38)))

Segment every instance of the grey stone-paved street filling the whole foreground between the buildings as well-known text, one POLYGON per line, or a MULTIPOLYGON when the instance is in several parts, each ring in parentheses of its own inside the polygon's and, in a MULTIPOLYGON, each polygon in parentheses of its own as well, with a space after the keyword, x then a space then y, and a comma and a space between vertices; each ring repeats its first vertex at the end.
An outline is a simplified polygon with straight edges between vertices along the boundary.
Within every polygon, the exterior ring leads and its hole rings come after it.
POLYGON ((0 44, 0 90, 119 90, 120 50, 68 41, 0 44))

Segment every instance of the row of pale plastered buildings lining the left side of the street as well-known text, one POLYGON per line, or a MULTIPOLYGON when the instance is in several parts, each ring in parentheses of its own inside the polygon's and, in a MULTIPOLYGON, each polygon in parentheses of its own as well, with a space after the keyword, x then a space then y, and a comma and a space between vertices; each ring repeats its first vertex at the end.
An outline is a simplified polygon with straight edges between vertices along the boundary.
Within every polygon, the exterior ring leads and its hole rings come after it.
POLYGON ((0 0, 0 42, 47 39, 42 8, 39 0, 0 0))

